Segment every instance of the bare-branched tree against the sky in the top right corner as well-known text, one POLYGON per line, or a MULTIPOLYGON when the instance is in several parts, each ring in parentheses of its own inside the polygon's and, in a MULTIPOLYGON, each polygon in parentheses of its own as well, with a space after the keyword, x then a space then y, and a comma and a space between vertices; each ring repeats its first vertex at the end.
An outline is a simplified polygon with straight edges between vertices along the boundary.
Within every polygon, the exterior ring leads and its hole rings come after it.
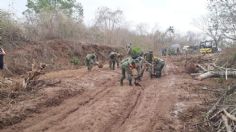
MULTIPOLYGON (((236 40, 236 1, 208 0, 209 14, 195 25, 218 46, 225 40, 236 40)), ((228 41, 230 42, 230 41, 228 41)))

